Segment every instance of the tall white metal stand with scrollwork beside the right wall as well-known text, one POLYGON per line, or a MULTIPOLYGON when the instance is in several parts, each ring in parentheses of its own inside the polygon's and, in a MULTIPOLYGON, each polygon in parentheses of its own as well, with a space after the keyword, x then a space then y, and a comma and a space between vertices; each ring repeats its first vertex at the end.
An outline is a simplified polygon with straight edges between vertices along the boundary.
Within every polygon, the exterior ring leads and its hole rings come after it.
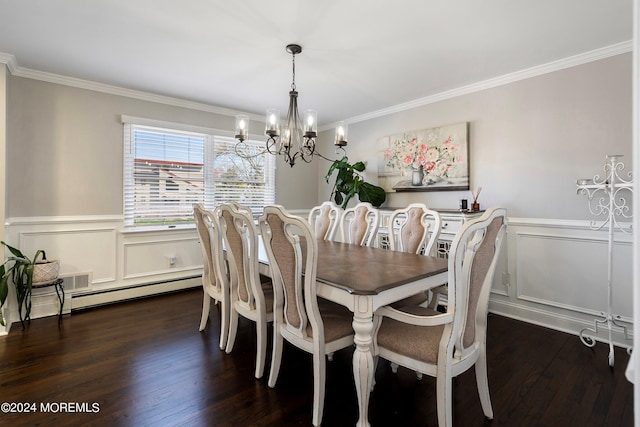
MULTIPOLYGON (((578 194, 586 194, 589 197, 589 211, 598 217, 605 217, 600 224, 596 220, 591 221, 593 230, 602 230, 608 227, 609 230, 609 263, 607 267, 607 312, 600 313, 601 319, 595 320, 592 328, 584 328, 580 331, 580 340, 588 347, 595 345, 595 339, 586 335, 598 333, 600 325, 607 328, 609 333, 609 366, 613 366, 614 353, 612 343, 613 328, 622 329, 625 339, 629 339, 627 328, 617 322, 619 315, 613 315, 611 304, 613 302, 613 236, 616 230, 630 234, 632 232, 630 221, 620 223, 619 220, 631 218, 631 210, 627 201, 633 193, 633 181, 631 172, 628 172, 628 179, 622 178, 624 164, 620 161, 621 155, 608 155, 604 165, 605 176, 601 178, 595 175, 593 179, 579 179, 578 194), (586 334, 585 334, 586 333, 586 334)), ((630 351, 630 347, 627 351, 630 351)))

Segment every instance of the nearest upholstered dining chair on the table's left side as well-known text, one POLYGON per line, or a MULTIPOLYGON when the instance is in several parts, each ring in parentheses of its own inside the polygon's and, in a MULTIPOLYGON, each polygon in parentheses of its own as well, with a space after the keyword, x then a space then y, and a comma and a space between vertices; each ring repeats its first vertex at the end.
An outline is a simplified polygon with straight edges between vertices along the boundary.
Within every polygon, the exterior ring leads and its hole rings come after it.
POLYGON ((318 299, 318 242, 310 224, 267 206, 259 218, 274 286, 273 355, 269 387, 275 387, 282 362, 283 340, 313 355, 313 425, 322 421, 326 356, 353 345, 353 314, 318 299), (304 272, 304 274, 303 274, 304 272))

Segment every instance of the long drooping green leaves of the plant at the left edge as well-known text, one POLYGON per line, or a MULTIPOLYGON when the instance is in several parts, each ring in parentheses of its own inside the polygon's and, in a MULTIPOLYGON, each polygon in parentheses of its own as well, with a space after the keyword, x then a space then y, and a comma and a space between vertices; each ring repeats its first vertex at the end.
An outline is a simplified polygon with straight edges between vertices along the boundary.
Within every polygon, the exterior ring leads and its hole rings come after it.
MULTIPOLYGON (((9 294, 9 278, 15 286, 18 300, 18 313, 20 321, 30 319, 31 314, 31 290, 33 286, 34 272, 39 264, 47 263, 47 257, 43 250, 38 250, 33 258, 25 256, 5 242, 0 242, 11 252, 2 265, 0 265, 0 308, 4 306, 9 294)), ((57 262, 57 261, 55 261, 57 262)), ((4 326, 4 318, 0 314, 0 324, 4 326)), ((24 327, 24 323, 23 323, 24 327)))

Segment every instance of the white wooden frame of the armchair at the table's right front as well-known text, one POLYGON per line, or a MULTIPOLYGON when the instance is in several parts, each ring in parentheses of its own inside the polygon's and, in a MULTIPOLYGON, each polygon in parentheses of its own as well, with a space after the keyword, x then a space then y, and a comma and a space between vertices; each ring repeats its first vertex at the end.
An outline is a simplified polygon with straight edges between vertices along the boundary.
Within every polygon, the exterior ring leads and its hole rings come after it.
POLYGON ((425 327, 444 325, 436 364, 413 359, 386 349, 379 345, 377 335, 374 338, 376 357, 379 356, 414 371, 436 377, 438 425, 441 427, 453 425, 452 378, 472 366, 475 366, 478 394, 483 412, 487 418, 493 418, 487 377, 486 326, 489 293, 506 227, 507 216, 506 210, 503 208, 489 209, 482 217, 462 226, 454 238, 449 252, 449 304, 446 313, 433 313, 424 316, 410 314, 410 310, 407 310, 406 307, 400 311, 389 306, 376 311, 376 330, 379 330, 383 317, 425 327), (484 243, 485 236, 489 234, 488 228, 493 226, 494 220, 500 221, 501 224, 495 234, 495 239, 486 242, 486 244, 493 245, 493 258, 484 278, 480 277, 482 285, 475 313, 470 313, 468 311, 469 284, 474 274, 475 255, 484 243), (473 340, 470 343, 465 342, 467 328, 472 328, 474 331, 473 340))

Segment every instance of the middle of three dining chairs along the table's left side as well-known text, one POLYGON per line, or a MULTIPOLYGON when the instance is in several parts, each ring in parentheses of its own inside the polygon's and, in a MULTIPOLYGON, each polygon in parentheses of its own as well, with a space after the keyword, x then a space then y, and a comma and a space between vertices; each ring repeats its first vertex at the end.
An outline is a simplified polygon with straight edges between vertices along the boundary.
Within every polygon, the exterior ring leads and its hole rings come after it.
POLYGON ((258 270, 258 233, 251 210, 236 204, 220 205, 220 231, 226 248, 230 279, 229 338, 231 353, 238 316, 256 324, 255 377, 262 378, 267 353, 267 323, 273 321, 273 286, 258 270))

